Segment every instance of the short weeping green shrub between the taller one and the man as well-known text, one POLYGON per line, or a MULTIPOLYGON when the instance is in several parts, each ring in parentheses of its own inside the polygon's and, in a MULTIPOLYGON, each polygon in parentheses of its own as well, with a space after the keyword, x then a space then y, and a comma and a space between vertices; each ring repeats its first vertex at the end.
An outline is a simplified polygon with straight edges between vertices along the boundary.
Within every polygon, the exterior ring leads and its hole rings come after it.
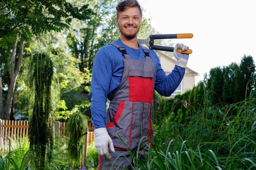
POLYGON ((77 165, 79 165, 79 159, 81 158, 83 136, 86 133, 87 128, 88 118, 85 115, 77 111, 70 116, 66 128, 67 135, 70 138, 68 151, 77 165))

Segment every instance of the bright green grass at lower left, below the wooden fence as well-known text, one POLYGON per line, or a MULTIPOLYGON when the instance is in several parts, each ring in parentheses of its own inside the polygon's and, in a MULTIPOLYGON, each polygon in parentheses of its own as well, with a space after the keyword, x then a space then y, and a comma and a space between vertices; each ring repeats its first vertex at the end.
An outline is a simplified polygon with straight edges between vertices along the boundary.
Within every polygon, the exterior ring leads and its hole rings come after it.
MULTIPOLYGON (((82 169, 81 165, 76 166, 77 162, 73 162, 73 160, 70 158, 67 149, 68 141, 69 139, 65 136, 55 138, 52 159, 46 164, 44 169, 82 169)), ((9 140, 8 143, 8 148, 0 148, 1 170, 36 169, 33 162, 40 159, 40 157, 30 152, 28 139, 22 139, 19 141, 9 140)), ((88 145, 87 155, 86 169, 97 169, 98 153, 94 147, 94 143, 88 145)), ((78 160, 80 164, 81 161, 82 160, 78 160)))

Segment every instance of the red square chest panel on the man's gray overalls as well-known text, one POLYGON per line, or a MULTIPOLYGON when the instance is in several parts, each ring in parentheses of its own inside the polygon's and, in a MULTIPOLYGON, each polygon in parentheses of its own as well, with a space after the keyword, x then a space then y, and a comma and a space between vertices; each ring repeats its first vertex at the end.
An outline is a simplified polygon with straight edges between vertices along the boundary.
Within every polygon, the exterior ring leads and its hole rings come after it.
POLYGON ((129 101, 153 102, 154 79, 129 77, 129 101))

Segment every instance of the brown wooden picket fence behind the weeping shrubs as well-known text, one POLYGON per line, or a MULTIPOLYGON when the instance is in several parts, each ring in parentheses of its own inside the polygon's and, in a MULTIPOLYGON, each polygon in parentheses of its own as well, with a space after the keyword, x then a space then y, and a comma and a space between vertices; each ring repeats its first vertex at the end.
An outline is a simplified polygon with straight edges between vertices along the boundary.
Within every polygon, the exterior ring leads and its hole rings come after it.
MULTIPOLYGON (((65 135, 65 128, 67 123, 55 122, 54 131, 55 135, 59 137, 65 135)), ((0 119, 0 148, 5 147, 8 140, 20 140, 28 137, 29 122, 18 120, 2 120, 0 119)), ((89 123, 87 130, 87 143, 92 143, 95 139, 94 126, 89 123)))

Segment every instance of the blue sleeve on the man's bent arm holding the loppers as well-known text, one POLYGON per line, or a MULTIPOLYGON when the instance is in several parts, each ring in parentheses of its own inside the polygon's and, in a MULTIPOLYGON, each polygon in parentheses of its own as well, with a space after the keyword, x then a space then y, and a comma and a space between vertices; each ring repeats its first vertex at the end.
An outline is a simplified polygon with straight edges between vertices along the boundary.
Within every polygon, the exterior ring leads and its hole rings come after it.
POLYGON ((155 90, 163 95, 170 96, 180 85, 183 76, 185 74, 185 68, 175 65, 174 69, 168 76, 165 75, 164 70, 161 67, 158 59, 156 68, 156 84, 155 90))

